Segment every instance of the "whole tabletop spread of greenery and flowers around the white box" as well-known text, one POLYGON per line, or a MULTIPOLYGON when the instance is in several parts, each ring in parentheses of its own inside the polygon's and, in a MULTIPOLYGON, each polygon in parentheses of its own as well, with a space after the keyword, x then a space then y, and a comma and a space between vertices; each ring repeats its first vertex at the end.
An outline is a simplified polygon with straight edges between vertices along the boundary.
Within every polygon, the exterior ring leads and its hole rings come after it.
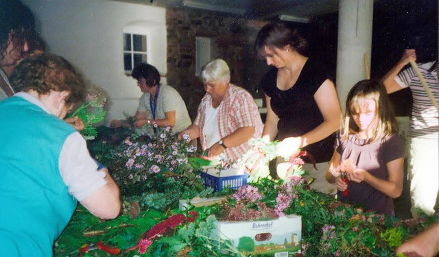
MULTIPOLYGON (((239 245, 213 236, 215 221, 289 214, 302 217, 302 251, 296 256, 394 256, 398 245, 438 220, 368 213, 310 190, 300 176, 258 176, 238 190, 214 192, 204 186, 200 152, 189 141, 169 131, 151 138, 130 129, 98 130, 88 146, 119 185, 122 213, 104 221, 78 206, 54 245, 55 256, 244 256, 239 245), (224 200, 178 208, 182 199, 216 196, 224 200)), ((298 171, 300 165, 293 173, 298 171)))

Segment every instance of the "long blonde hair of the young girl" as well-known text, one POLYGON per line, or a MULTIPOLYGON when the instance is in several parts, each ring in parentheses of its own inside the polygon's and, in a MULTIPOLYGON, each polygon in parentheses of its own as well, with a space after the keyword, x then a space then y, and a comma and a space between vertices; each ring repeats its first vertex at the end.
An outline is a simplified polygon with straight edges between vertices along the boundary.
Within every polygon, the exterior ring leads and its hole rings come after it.
POLYGON ((362 101, 364 99, 373 100, 376 106, 375 118, 370 128, 372 137, 370 137, 369 142, 398 133, 399 126, 384 85, 380 81, 366 79, 355 84, 348 93, 343 113, 342 140, 346 140, 349 134, 359 132, 352 116, 366 109, 362 101))

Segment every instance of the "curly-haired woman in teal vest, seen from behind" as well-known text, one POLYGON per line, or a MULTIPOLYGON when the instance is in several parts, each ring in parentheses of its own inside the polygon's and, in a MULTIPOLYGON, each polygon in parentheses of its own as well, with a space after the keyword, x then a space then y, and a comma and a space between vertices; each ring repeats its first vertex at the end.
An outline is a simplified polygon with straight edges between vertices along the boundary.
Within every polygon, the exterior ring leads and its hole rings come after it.
POLYGON ((119 215, 119 188, 62 120, 82 100, 84 81, 57 55, 25 59, 0 102, 0 245, 4 256, 52 256, 79 201, 93 215, 119 215))

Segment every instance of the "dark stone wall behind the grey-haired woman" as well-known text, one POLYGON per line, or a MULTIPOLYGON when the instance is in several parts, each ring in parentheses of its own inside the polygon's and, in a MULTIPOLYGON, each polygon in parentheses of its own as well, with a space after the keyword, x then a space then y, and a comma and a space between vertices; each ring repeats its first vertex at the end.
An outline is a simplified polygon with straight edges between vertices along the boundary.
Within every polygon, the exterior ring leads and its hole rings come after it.
POLYGON ((195 37, 208 37, 217 44, 217 57, 230 66, 231 83, 246 88, 253 96, 266 67, 253 53, 253 42, 265 23, 231 18, 212 12, 167 10, 167 83, 185 99, 192 120, 205 92, 195 77, 195 37))

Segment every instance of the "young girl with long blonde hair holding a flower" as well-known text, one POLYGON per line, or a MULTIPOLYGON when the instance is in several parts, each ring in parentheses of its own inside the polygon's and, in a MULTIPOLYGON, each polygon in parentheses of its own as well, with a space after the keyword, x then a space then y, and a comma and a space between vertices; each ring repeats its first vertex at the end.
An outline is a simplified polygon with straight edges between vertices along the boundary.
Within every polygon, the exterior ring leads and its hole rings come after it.
POLYGON ((326 178, 343 202, 392 215, 403 189, 404 143, 385 87, 359 81, 348 93, 326 178))

